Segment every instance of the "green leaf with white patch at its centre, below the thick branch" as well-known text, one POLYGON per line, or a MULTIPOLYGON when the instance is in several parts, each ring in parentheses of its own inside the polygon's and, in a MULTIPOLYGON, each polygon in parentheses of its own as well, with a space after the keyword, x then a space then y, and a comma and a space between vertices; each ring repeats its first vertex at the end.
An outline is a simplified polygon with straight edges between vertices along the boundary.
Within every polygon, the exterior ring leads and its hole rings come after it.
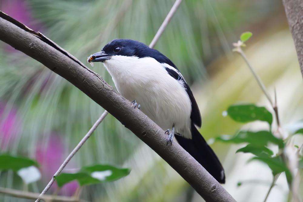
POLYGON ((83 167, 78 173, 61 173, 56 177, 59 187, 77 180, 81 186, 110 182, 127 176, 130 173, 128 168, 117 168, 111 165, 93 165, 83 167))

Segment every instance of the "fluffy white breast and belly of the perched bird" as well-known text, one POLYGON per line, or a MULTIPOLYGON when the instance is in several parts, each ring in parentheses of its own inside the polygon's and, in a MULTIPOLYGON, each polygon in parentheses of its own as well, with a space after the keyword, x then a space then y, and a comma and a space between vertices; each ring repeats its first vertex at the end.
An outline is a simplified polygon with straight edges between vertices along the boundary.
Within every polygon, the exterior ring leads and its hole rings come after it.
MULTIPOLYGON (((103 62, 119 93, 136 100, 141 110, 163 130, 171 129, 191 138, 191 101, 182 81, 171 77, 154 58, 112 56, 103 62)), ((172 68, 172 67, 171 67, 172 68)))

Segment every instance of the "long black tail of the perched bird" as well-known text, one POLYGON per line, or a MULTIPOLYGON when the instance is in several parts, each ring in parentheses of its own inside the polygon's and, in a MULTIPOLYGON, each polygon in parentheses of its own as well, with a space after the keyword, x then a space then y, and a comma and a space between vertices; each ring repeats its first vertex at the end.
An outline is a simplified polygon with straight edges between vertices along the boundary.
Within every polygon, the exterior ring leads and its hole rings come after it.
POLYGON ((215 152, 208 146, 202 135, 191 124, 192 139, 176 135, 178 143, 197 160, 219 183, 225 183, 224 169, 215 152))

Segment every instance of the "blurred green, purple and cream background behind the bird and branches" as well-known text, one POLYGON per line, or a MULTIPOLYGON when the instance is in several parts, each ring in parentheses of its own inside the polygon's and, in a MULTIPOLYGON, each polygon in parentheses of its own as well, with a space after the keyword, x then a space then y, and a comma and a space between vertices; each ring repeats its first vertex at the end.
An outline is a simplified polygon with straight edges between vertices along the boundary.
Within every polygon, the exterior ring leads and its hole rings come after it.
MULTIPOLYGON (((102 63, 91 67, 87 57, 116 38, 149 44, 173 3, 1 0, 0 10, 42 32, 114 86, 102 63)), ((303 126, 298 122, 303 120, 302 76, 281 1, 183 1, 155 49, 170 58, 190 84, 201 111, 200 132, 210 142, 243 126, 222 116, 231 104, 256 103, 271 110, 244 61, 231 51, 232 42, 245 31, 253 32, 253 37, 244 51, 272 96, 276 89, 283 129, 293 132, 303 126)), ((65 79, 0 41, 0 152, 30 157, 41 165, 42 180, 30 184, 28 190, 41 192, 103 111, 65 79)), ((261 122, 245 125, 254 130, 267 127, 261 122)), ((302 142, 302 136, 294 141, 302 142)), ((225 167, 225 189, 237 201, 264 200, 271 170, 261 162, 247 163, 250 154, 235 154, 240 145, 215 142, 211 147, 225 167)), ((96 163, 132 171, 115 182, 84 187, 81 198, 88 201, 203 201, 178 173, 111 115, 67 168, 96 163)), ((0 187, 22 190, 23 184, 13 172, 2 172, 0 187)), ((60 194, 71 196, 77 187, 77 182, 68 183, 60 194)), ((52 187, 50 193, 55 189, 52 187)), ((282 174, 268 201, 287 200, 288 185, 282 174)), ((0 201, 30 200, 0 194, 0 201)))

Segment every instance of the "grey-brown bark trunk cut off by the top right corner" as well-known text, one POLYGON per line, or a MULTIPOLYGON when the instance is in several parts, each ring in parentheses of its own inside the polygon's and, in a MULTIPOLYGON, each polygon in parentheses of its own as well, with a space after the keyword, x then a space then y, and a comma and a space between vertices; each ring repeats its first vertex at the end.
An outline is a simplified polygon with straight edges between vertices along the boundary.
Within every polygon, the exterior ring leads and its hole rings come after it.
POLYGON ((303 0, 283 0, 283 5, 303 76, 303 0))

